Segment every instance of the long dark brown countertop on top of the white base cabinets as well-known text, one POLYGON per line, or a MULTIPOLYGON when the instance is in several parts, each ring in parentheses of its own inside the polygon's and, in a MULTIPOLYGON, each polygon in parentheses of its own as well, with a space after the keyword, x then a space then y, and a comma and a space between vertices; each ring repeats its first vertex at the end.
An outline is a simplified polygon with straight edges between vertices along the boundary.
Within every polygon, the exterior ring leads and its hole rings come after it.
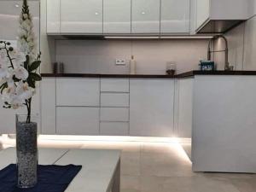
POLYGON ((42 77, 67 78, 140 78, 140 79, 182 79, 195 75, 256 75, 256 71, 189 71, 177 75, 160 74, 99 74, 99 73, 42 73, 42 77))

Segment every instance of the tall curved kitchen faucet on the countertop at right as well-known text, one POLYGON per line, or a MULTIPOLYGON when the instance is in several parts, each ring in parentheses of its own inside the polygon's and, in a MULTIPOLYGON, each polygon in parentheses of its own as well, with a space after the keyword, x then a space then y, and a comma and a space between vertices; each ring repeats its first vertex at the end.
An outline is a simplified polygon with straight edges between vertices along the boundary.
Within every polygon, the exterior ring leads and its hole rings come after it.
POLYGON ((213 38, 210 39, 208 44, 208 54, 207 59, 208 61, 211 60, 212 53, 214 52, 225 52, 225 65, 224 65, 224 71, 233 71, 234 67, 230 66, 229 63, 229 46, 228 46, 228 40, 223 35, 216 35, 213 38), (211 50, 212 41, 218 38, 223 38, 225 42, 225 49, 224 50, 211 50))

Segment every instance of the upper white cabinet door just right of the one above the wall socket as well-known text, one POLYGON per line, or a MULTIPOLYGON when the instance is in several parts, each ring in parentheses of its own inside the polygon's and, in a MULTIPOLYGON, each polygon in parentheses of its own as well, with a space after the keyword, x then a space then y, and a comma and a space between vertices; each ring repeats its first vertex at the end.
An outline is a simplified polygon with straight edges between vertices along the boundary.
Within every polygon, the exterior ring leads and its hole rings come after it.
POLYGON ((160 0, 132 0, 131 33, 160 33, 160 0))

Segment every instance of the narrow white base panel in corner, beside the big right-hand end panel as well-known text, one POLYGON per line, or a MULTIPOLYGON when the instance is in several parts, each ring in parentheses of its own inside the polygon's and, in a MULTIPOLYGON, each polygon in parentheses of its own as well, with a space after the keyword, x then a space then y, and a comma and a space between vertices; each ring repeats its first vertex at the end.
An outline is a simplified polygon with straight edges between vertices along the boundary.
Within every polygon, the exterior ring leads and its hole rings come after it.
POLYGON ((178 79, 178 137, 191 138, 194 79, 178 79))

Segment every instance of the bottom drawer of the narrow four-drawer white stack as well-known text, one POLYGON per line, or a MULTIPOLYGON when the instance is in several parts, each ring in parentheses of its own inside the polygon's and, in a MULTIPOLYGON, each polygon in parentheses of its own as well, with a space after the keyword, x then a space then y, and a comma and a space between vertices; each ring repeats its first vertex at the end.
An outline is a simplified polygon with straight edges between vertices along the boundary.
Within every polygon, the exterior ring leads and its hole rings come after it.
POLYGON ((102 122, 100 125, 100 134, 102 136, 128 136, 129 123, 102 122))

